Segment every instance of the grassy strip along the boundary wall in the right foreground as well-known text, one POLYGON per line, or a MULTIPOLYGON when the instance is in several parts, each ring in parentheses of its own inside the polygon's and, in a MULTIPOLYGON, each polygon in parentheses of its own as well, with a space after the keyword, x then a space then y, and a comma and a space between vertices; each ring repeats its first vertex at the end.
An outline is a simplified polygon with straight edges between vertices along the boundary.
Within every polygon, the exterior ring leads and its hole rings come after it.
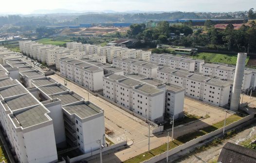
MULTIPOLYGON (((240 117, 238 115, 231 115, 231 116, 226 118, 226 125, 229 125, 233 122, 236 122, 241 118, 242 117, 240 117)), ((178 146, 182 145, 183 143, 186 143, 190 140, 193 140, 193 139, 195 139, 199 136, 202 136, 202 135, 205 135, 209 132, 217 130, 217 129, 223 127, 223 124, 224 124, 224 120, 220 121, 216 124, 213 124, 212 126, 205 127, 203 129, 201 129, 200 131, 191 132, 191 133, 185 134, 181 137, 178 137, 173 142, 169 142, 169 149, 172 149, 174 147, 178 147, 178 146)), ((148 160, 148 159, 150 159, 154 156, 157 156, 157 155, 165 152, 166 148, 167 148, 167 143, 163 144, 162 146, 151 149, 148 152, 144 152, 140 155, 137 155, 133 158, 130 158, 130 159, 124 161, 124 163, 141 163, 143 161, 146 161, 146 160, 148 160)))

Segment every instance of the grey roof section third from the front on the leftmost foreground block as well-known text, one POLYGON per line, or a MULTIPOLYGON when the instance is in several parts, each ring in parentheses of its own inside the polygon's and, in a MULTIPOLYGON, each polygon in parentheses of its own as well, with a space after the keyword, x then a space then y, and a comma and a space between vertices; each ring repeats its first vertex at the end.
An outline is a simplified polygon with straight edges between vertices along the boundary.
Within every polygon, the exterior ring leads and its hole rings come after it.
POLYGON ((20 84, 13 85, 11 87, 6 87, 0 90, 0 94, 3 98, 12 97, 15 95, 21 95, 25 93, 28 93, 28 91, 24 87, 22 87, 20 84))

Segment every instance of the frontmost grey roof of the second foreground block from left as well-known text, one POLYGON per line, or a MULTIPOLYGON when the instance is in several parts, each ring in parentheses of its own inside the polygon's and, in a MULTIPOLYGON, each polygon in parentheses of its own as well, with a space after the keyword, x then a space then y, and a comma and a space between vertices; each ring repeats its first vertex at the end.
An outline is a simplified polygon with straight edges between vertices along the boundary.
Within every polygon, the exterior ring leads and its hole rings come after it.
POLYGON ((102 111, 93 106, 91 103, 80 103, 80 104, 74 104, 69 106, 63 106, 63 108, 69 113, 69 114, 76 114, 81 119, 87 118, 89 116, 99 114, 102 111))

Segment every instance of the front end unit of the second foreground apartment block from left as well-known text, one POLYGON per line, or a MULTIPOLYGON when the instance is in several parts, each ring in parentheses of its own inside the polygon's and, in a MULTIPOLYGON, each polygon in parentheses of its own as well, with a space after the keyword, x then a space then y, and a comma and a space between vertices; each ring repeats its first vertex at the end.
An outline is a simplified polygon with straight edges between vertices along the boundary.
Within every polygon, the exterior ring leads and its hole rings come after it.
POLYGON ((90 101, 78 101, 63 106, 64 117, 69 119, 65 123, 66 128, 71 130, 70 139, 76 140, 75 146, 79 146, 80 151, 89 153, 99 149, 97 140, 100 139, 102 145, 105 145, 105 124, 104 110, 90 101))

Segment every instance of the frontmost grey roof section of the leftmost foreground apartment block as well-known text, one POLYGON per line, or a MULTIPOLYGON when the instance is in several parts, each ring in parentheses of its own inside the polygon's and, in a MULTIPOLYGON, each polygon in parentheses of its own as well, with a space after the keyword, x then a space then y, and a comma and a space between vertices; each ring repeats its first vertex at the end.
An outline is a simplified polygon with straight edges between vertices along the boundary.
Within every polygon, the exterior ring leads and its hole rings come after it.
POLYGON ((31 109, 14 114, 14 117, 18 120, 15 125, 22 128, 38 125, 43 122, 47 122, 50 119, 45 115, 48 111, 41 105, 35 106, 31 109))

